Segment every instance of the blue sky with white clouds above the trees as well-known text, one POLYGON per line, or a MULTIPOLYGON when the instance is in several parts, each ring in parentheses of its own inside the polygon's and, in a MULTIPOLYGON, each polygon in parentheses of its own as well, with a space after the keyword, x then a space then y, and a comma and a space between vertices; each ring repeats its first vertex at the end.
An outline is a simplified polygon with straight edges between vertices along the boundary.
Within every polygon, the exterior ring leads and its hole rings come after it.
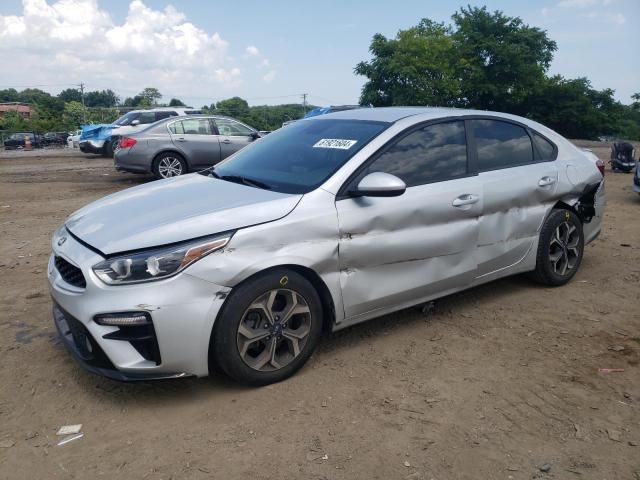
POLYGON ((640 0, 0 0, 0 89, 84 83, 120 97, 156 87, 199 107, 353 104, 376 33, 486 5, 558 44, 550 73, 587 77, 623 103, 640 91, 640 0))

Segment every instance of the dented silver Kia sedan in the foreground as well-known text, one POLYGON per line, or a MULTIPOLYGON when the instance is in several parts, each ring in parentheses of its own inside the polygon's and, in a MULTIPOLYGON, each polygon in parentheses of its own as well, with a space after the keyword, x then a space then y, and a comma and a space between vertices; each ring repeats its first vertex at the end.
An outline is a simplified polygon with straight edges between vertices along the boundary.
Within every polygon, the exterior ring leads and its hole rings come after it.
POLYGON ((604 205, 596 157, 524 118, 319 116, 71 215, 52 239, 55 324, 111 378, 269 384, 323 331, 517 273, 568 282, 604 205))

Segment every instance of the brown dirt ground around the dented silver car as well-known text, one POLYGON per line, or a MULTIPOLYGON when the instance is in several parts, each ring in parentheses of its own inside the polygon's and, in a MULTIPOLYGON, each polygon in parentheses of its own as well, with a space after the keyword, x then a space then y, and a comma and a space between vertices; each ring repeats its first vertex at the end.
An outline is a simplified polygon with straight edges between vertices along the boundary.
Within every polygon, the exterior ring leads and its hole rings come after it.
POLYGON ((607 173, 602 235, 569 285, 508 278, 430 315, 388 315, 325 337, 294 378, 259 389, 117 383, 55 339, 51 233, 149 180, 64 150, 0 152, 1 479, 640 480, 631 175, 607 173), (84 437, 56 446, 71 423, 84 437))

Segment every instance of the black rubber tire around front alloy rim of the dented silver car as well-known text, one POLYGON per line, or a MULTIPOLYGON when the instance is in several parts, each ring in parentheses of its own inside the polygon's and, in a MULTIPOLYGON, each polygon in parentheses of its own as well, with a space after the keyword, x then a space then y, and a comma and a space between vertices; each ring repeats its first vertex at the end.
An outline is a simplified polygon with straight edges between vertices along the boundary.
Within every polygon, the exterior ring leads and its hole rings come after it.
MULTIPOLYGON (((237 382, 247 385, 261 386, 285 380, 297 372, 315 350, 322 333, 322 314, 318 292, 303 276, 285 268, 258 274, 235 288, 224 303, 210 342, 210 367, 219 369, 237 382), (305 337, 306 343, 299 349, 299 354, 294 355, 293 359, 284 366, 271 371, 256 370, 249 366, 240 353, 238 343, 238 339, 242 338, 239 337, 238 332, 240 322, 243 320, 246 322, 248 315, 251 315, 248 312, 252 303, 271 291, 283 289, 284 286, 287 290, 303 297, 308 306, 310 325, 309 333, 305 337)), ((262 324, 263 321, 260 319, 258 323, 262 324)), ((267 326, 266 321, 264 326, 267 326)), ((269 338, 267 337, 266 340, 269 338)), ((286 339, 273 341, 277 344, 277 342, 286 342, 286 339)), ((277 348, 279 347, 275 347, 274 350, 277 348)))

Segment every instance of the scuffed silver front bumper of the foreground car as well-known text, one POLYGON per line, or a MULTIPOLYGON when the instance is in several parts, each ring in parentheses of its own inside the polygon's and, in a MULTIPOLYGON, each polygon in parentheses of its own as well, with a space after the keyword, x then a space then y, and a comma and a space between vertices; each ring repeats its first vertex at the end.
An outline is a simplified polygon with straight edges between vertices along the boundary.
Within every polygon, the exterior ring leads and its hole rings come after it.
POLYGON ((209 340, 228 287, 186 272, 158 282, 108 286, 91 270, 103 257, 68 233, 63 235, 67 240, 61 246, 54 236, 48 265, 54 322, 64 345, 84 368, 123 381, 208 375, 209 340), (55 256, 82 271, 85 288, 62 278, 55 256), (157 348, 157 356, 120 335, 119 327, 94 321, 98 314, 141 311, 151 317, 154 338, 149 345, 157 348))

